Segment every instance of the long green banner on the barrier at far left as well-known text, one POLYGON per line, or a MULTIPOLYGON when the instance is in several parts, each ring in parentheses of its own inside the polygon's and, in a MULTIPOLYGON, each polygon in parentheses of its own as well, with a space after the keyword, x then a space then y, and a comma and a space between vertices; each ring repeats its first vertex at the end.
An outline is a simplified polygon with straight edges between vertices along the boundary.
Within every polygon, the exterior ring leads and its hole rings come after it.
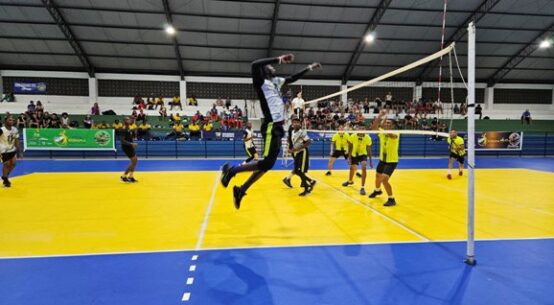
POLYGON ((23 130, 25 150, 113 150, 113 129, 33 129, 23 130))

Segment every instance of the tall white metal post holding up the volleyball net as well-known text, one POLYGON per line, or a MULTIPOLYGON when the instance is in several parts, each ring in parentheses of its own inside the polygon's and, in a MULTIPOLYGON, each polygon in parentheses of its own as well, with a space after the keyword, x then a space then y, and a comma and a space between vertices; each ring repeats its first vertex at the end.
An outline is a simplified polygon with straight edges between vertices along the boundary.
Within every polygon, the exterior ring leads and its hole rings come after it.
POLYGON ((467 50, 467 254, 465 262, 475 265, 475 24, 471 22, 468 27, 467 50))

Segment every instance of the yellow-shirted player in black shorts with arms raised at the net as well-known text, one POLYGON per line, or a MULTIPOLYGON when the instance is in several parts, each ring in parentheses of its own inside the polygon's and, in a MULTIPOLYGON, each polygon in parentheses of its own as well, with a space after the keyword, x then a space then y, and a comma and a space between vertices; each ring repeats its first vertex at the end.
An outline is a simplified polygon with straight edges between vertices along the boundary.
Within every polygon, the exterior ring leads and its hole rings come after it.
POLYGON ((396 205, 389 179, 398 164, 400 134, 390 132, 394 127, 394 122, 387 119, 386 115, 386 110, 381 110, 371 124, 371 129, 378 129, 381 132, 379 133, 379 164, 377 165, 377 176, 375 177, 375 190, 369 195, 369 198, 375 198, 383 194, 383 191, 381 191, 381 184, 383 184, 389 196, 384 206, 389 207, 396 205))

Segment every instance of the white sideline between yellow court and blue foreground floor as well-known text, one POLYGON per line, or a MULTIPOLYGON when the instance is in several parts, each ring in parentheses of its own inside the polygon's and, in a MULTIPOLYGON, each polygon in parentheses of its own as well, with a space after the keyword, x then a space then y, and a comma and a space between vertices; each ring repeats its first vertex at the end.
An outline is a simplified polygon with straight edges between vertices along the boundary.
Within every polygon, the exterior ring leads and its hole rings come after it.
MULTIPOLYGON (((551 240, 554 236, 542 237, 513 237, 513 238, 482 238, 476 241, 526 241, 526 240, 551 240)), ((466 242, 465 239, 452 240, 430 240, 430 241, 380 241, 380 242, 361 242, 361 243, 325 243, 325 244, 299 244, 299 245, 268 245, 268 246, 250 246, 250 247, 220 247, 220 248, 204 248, 206 251, 223 251, 223 250, 255 250, 255 249, 280 249, 280 248, 302 248, 302 247, 340 247, 340 246, 370 246, 370 245, 392 245, 392 244, 424 244, 424 243, 457 243, 466 242)), ((81 254, 52 254, 52 255, 32 255, 32 256, 5 256, 0 257, 0 260, 9 259, 33 259, 33 258, 65 258, 65 257, 80 257, 80 256, 104 256, 104 255, 133 255, 133 254, 156 254, 156 253, 176 253, 176 252, 195 252, 196 250, 189 249, 171 249, 171 250, 151 250, 151 251, 128 251, 128 252, 103 252, 103 253, 81 253, 81 254)))

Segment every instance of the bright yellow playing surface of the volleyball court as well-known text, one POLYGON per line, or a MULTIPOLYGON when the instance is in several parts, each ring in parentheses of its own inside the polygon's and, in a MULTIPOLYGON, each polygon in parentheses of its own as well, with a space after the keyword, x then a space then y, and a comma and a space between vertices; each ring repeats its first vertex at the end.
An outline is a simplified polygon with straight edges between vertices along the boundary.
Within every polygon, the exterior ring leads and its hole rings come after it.
MULTIPOLYGON (((269 172, 238 211, 216 171, 141 172, 138 184, 111 172, 16 177, 0 190, 0 257, 466 238, 466 176, 397 170, 398 205, 383 207, 385 195, 359 195, 360 179, 342 187, 346 171, 311 171, 318 184, 307 197, 281 182, 287 173, 269 172)), ((479 169, 476 177, 477 239, 554 237, 554 173, 479 169)))

